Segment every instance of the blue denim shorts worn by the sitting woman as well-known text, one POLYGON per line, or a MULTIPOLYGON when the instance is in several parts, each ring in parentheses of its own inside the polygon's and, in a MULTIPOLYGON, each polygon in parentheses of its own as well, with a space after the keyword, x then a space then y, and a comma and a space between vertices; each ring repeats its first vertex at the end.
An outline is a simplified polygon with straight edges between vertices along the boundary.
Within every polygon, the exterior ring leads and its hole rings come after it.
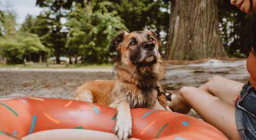
POLYGON ((256 91, 244 85, 236 103, 236 124, 241 138, 256 139, 256 91))

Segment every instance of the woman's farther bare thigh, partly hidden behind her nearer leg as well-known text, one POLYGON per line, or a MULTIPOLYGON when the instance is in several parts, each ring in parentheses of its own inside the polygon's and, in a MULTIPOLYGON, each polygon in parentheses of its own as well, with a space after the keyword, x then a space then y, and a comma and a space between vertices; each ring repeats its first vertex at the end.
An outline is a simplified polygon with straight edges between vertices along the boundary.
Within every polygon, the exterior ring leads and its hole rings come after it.
POLYGON ((230 105, 233 105, 234 98, 240 95, 244 83, 214 76, 211 80, 200 86, 199 89, 217 96, 230 105))

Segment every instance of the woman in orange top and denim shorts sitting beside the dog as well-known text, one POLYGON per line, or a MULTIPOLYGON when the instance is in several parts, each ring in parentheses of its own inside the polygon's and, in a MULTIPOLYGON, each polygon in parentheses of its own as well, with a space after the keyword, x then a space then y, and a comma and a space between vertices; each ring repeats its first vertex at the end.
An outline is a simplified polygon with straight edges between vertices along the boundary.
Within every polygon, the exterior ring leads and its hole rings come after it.
MULTIPOLYGON (((231 0, 246 13, 256 12, 256 0, 231 0)), ((247 84, 214 76, 199 88, 183 87, 173 101, 172 110, 187 114, 193 108, 209 124, 229 139, 256 139, 256 23, 252 24, 252 47, 246 62, 247 84)))

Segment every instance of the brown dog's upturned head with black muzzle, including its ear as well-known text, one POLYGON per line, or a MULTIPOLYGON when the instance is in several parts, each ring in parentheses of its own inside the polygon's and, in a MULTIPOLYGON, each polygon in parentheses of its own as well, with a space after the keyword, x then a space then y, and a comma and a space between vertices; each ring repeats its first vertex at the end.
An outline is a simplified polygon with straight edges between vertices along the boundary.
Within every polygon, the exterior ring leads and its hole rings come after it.
POLYGON ((150 31, 121 32, 110 45, 110 51, 118 53, 117 60, 124 65, 151 67, 161 59, 160 42, 150 31))

